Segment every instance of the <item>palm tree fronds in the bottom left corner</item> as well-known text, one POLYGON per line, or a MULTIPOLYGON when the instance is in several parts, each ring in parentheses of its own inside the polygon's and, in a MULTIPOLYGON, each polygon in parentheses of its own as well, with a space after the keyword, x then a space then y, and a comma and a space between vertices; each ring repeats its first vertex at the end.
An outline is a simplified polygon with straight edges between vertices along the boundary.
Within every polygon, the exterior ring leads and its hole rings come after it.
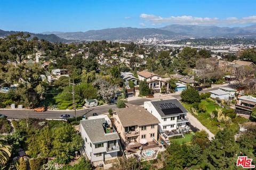
POLYGON ((0 136, 0 168, 3 168, 11 157, 11 150, 11 146, 7 144, 2 136, 0 136))

